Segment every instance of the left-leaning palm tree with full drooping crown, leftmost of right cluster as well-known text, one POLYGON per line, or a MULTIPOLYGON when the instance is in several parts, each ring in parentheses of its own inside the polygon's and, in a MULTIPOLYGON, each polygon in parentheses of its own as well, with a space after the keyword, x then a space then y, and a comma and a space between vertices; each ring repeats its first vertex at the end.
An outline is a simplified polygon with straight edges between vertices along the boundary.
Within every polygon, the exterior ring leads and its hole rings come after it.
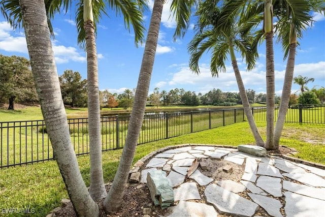
POLYGON ((236 16, 234 14, 228 14, 233 19, 228 19, 228 22, 222 28, 217 28, 220 17, 225 14, 222 12, 222 9, 221 11, 219 10, 214 1, 202 3, 196 15, 199 17, 199 27, 197 34, 188 45, 188 51, 190 53, 189 68, 199 74, 199 60, 206 51, 211 50, 210 70, 212 76, 218 76, 219 72, 225 72, 225 60, 227 59, 227 55, 230 55, 249 126, 253 132, 256 144, 258 146, 264 146, 265 143, 258 132, 250 109, 235 55, 235 50, 239 50, 243 58, 246 58, 247 69, 253 69, 255 58, 258 54, 256 46, 249 44, 249 37, 243 36, 245 38, 241 38, 240 33, 242 28, 245 27, 245 23, 236 24, 236 16), (206 13, 207 11, 209 13, 206 13))

